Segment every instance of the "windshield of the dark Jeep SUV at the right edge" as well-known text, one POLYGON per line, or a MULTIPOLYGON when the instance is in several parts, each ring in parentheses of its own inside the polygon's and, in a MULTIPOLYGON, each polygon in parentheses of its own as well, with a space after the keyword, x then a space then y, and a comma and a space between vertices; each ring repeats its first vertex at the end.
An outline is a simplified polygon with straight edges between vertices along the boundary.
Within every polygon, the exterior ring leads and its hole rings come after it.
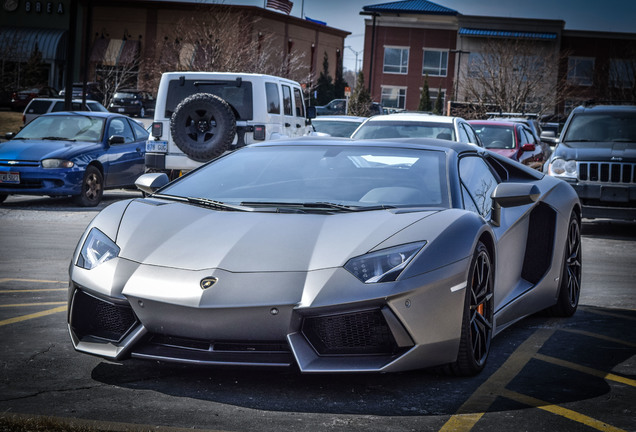
POLYGON ((624 142, 636 144, 636 112, 575 114, 563 142, 624 142))

